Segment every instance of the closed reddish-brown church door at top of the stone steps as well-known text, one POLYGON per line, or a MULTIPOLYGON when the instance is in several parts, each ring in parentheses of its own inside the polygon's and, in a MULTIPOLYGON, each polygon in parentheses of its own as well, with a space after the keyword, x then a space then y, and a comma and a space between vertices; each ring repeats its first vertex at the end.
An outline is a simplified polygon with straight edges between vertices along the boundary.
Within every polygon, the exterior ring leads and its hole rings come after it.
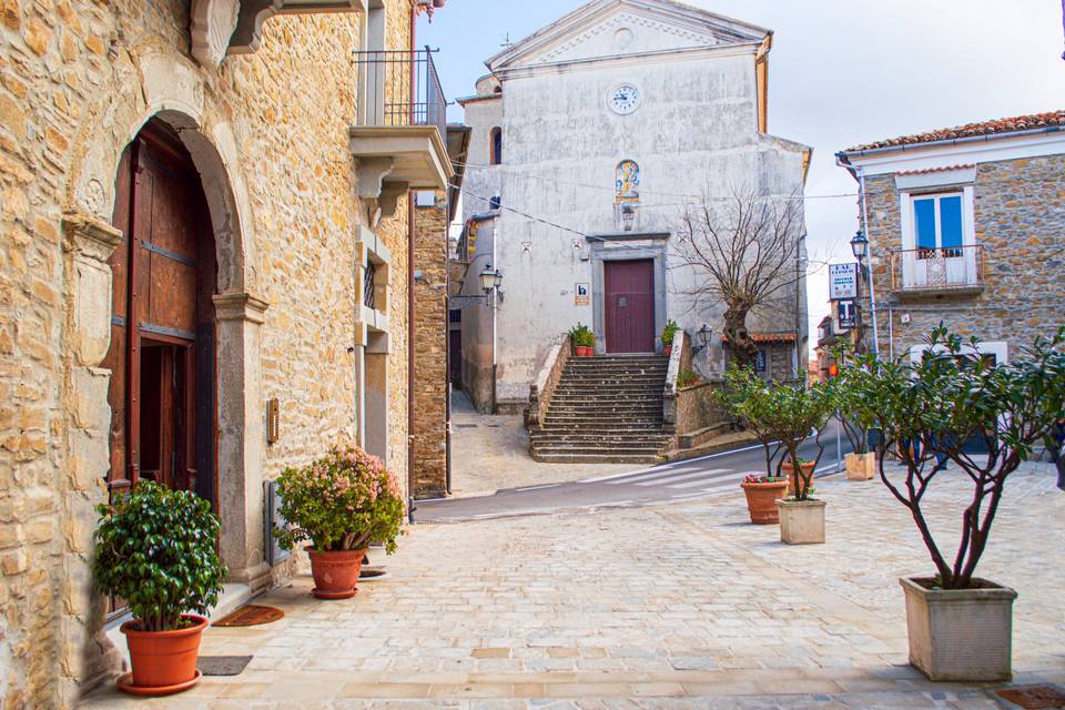
POLYGON ((655 352, 655 260, 604 263, 608 353, 655 352))

